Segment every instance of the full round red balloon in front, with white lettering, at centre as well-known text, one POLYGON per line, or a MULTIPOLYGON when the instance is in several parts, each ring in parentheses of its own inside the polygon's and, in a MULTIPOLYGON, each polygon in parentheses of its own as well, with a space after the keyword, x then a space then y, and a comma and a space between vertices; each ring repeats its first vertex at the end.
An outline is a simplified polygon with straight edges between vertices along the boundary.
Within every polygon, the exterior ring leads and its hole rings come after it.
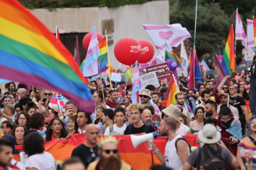
POLYGON ((141 57, 141 44, 134 38, 125 37, 117 41, 115 58, 124 65, 132 65, 141 57))

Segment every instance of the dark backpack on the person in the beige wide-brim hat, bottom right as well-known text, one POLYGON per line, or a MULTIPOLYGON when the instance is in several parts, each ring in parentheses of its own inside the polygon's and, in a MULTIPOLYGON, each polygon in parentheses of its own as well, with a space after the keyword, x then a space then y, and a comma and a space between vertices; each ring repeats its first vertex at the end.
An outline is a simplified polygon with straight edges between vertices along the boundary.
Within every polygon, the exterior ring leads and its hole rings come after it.
POLYGON ((199 147, 199 154, 197 159, 197 169, 200 169, 201 163, 201 154, 204 153, 206 158, 206 162, 203 164, 203 169, 205 170, 229 170, 229 167, 224 162, 224 160, 220 157, 221 147, 217 146, 217 152, 212 147, 208 145, 204 145, 203 147, 199 147), (209 150, 213 156, 210 157, 208 151, 209 150))

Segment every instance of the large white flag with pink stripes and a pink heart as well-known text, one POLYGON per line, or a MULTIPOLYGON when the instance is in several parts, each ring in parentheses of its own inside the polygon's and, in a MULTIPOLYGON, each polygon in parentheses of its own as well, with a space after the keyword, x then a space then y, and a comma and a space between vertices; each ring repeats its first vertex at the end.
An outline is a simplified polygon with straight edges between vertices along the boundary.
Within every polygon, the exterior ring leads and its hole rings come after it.
POLYGON ((163 56, 165 55, 165 42, 169 44, 170 47, 178 47, 186 38, 191 37, 187 28, 182 27, 181 24, 142 24, 142 26, 147 31, 155 47, 157 47, 163 56))

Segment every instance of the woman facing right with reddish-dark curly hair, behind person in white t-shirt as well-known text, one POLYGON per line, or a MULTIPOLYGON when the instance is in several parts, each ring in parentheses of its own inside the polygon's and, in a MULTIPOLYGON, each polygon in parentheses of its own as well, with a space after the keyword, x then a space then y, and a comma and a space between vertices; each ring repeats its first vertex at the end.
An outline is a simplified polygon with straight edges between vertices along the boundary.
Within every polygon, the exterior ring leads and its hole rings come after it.
POLYGON ((36 130, 43 138, 46 137, 45 115, 43 113, 34 113, 28 123, 29 130, 36 130))

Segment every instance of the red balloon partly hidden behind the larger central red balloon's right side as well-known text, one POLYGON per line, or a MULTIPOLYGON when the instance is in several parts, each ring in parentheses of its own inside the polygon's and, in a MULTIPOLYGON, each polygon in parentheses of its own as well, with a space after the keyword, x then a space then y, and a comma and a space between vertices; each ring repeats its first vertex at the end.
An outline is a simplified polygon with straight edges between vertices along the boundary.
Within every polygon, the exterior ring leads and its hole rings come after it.
POLYGON ((150 61, 154 56, 154 47, 147 40, 139 40, 141 44, 141 58, 138 60, 140 63, 146 63, 150 61))

